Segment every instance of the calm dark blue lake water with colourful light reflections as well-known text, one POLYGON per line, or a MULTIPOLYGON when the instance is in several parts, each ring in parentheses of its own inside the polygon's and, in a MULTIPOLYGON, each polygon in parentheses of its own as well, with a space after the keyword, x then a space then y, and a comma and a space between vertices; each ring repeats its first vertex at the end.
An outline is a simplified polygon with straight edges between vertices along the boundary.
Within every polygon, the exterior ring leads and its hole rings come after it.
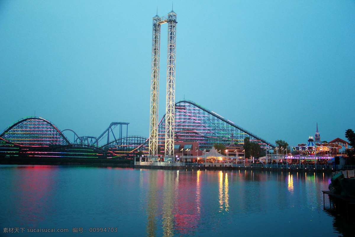
POLYGON ((327 210, 327 196, 323 208, 321 190, 330 183, 323 173, 1 165, 0 181, 0 236, 324 237, 355 232, 354 222, 327 210), (20 233, 4 233, 4 228, 20 233), (27 232, 32 228, 69 232, 27 232))

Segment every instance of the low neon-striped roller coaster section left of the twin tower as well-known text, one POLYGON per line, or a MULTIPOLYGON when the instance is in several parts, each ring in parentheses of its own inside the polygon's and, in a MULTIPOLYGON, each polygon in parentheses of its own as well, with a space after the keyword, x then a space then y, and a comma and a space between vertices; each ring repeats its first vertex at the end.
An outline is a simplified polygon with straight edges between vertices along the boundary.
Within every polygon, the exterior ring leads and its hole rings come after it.
MULTIPOLYGON (((59 130, 57 126, 40 117, 26 117, 16 121, 0 134, 1 157, 69 158, 71 159, 133 159, 147 138, 122 137, 123 126, 129 123, 113 122, 99 137, 79 137, 73 130, 59 130), (120 127, 119 135, 114 128, 120 127), (64 131, 72 133, 71 142, 64 131), (113 137, 114 140, 110 141, 113 137), (103 141, 107 142, 100 145, 103 141), (138 148, 140 148, 138 150, 138 148)), ((128 133, 128 132, 127 132, 128 133)))

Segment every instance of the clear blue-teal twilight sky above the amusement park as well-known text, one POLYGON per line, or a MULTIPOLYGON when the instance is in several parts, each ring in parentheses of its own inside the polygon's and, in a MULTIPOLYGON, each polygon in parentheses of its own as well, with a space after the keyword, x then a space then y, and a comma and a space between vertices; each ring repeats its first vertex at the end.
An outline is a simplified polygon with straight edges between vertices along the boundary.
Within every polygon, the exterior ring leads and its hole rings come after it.
MULTIPOLYGON (((148 137, 157 7, 166 16, 171 1, 0 0, 0 131, 35 114, 79 136, 129 122, 148 137)), ((355 129, 355 1, 174 0, 174 11, 175 101, 272 143, 307 142, 316 123, 327 141, 355 129)))

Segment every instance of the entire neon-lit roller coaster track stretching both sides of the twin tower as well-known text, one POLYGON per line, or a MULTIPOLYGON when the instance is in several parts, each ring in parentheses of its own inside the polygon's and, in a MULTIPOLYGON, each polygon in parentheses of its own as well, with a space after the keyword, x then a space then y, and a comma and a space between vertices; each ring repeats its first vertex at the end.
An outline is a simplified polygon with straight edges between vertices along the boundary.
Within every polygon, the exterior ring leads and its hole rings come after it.
MULTIPOLYGON (((249 137, 250 141, 259 143, 261 147, 267 145, 275 147, 270 142, 193 101, 176 102, 175 116, 174 141, 185 142, 185 144, 197 142, 198 150, 209 151, 215 143, 227 145, 234 142, 242 146, 246 137, 249 137)), ((70 129, 59 130, 44 118, 26 117, 11 124, 0 134, 0 155, 1 157, 69 159, 133 159, 138 155, 148 155, 148 138, 128 136, 128 124, 113 122, 98 137, 80 137, 70 129), (122 136, 125 126, 126 136, 122 136), (116 127, 119 127, 118 134, 116 127), (69 136, 73 136, 72 141, 68 139, 69 136)), ((165 115, 158 124, 158 131, 159 150, 160 155, 163 156, 165 115)))

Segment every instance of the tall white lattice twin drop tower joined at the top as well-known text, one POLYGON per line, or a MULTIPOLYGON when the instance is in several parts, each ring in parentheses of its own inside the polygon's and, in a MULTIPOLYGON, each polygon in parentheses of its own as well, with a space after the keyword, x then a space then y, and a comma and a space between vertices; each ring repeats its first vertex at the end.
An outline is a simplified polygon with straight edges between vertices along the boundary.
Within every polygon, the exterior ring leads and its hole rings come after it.
POLYGON ((165 114, 165 161, 174 158, 175 124, 175 49, 176 49, 176 14, 173 10, 168 16, 153 17, 152 41, 152 81, 151 113, 149 126, 149 156, 158 157, 158 102, 159 102, 159 60, 160 60, 160 25, 168 23, 168 63, 166 72, 166 114, 165 114))

